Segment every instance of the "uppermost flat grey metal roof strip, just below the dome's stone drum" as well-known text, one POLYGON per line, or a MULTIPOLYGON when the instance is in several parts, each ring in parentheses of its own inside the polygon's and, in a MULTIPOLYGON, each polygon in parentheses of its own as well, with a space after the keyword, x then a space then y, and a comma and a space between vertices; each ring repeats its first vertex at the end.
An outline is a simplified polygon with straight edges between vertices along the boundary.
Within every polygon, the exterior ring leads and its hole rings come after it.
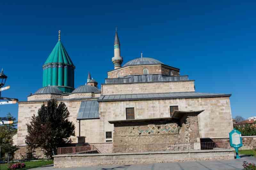
POLYGON ((159 82, 159 81, 188 81, 188 75, 163 76, 162 74, 130 75, 123 78, 105 79, 106 84, 159 82))

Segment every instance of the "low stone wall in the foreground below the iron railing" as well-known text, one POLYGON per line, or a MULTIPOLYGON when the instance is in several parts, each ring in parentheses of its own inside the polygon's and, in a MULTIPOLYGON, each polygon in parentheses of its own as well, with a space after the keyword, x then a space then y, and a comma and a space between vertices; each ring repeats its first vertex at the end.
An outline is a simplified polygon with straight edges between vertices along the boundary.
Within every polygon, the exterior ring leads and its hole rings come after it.
POLYGON ((54 167, 67 168, 99 165, 133 165, 199 160, 234 159, 234 152, 228 150, 141 152, 141 153, 100 153, 55 155, 54 167))

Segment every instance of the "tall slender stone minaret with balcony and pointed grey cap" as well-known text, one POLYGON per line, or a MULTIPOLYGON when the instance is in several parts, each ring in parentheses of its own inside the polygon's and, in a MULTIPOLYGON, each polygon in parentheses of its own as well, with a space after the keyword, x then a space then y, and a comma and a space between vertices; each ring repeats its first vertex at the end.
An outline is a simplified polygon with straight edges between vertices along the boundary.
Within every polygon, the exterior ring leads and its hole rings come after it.
POLYGON ((117 35, 117 28, 116 28, 116 35, 114 41, 114 57, 112 57, 112 62, 114 64, 114 69, 120 68, 121 64, 123 63, 123 57, 121 57, 120 53, 120 42, 117 35))

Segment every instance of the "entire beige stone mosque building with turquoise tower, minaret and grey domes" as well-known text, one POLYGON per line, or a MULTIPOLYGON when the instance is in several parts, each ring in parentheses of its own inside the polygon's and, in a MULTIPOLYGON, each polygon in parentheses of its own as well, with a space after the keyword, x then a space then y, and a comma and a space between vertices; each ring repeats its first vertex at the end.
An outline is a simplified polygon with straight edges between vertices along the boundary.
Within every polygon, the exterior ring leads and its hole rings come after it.
POLYGON ((233 129, 230 94, 196 92, 195 80, 180 75, 179 68, 142 53, 122 65, 120 48, 116 31, 114 69, 108 71, 105 83, 98 89, 89 73, 87 82, 75 88, 75 66, 59 32, 59 41, 43 65, 43 87, 19 102, 15 140, 20 152, 26 147, 26 124, 49 99, 67 105, 69 119, 76 125, 76 136, 71 137, 74 143, 78 136, 95 146, 228 138, 233 129))

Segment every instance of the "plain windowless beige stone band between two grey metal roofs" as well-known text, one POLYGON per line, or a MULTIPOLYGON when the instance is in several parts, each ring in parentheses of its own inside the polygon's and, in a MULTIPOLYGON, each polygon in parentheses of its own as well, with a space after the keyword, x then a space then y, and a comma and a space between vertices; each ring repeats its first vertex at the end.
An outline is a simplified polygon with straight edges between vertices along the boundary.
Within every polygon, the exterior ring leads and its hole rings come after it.
POLYGON ((194 92, 194 81, 172 81, 129 84, 103 84, 102 95, 194 92))

